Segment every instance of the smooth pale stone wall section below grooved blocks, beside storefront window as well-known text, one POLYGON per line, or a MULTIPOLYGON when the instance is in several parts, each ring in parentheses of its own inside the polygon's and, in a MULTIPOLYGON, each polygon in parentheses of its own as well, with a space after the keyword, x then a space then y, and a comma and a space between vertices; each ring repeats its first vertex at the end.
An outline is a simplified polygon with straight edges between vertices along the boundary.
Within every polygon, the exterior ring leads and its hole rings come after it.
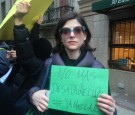
POLYGON ((108 17, 104 14, 86 17, 87 24, 92 34, 90 45, 96 48, 95 57, 108 67, 108 17))

